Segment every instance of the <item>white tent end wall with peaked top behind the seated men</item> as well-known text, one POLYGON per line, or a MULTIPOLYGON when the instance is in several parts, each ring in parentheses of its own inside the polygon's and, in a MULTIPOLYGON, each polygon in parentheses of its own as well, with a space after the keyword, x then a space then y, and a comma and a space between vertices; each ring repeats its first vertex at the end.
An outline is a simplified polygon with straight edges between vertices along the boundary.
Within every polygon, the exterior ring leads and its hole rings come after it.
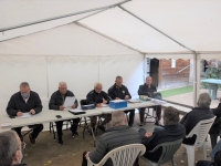
POLYGON ((0 43, 0 114, 21 82, 39 93, 43 110, 59 82, 66 82, 77 100, 85 98, 94 83, 107 91, 122 75, 133 97, 144 83, 144 54, 92 32, 69 24, 0 43))

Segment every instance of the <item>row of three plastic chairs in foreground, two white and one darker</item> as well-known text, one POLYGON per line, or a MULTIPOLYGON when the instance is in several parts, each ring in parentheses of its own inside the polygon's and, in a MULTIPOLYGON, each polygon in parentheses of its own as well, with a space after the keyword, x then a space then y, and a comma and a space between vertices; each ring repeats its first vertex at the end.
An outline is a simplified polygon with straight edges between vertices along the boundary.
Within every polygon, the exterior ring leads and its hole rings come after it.
POLYGON ((141 156, 146 152, 146 147, 143 144, 130 144, 126 146, 120 146, 107 153, 104 158, 98 163, 94 164, 88 158, 87 166, 103 166, 108 158, 112 159, 114 166, 133 166, 135 159, 139 156, 143 158, 148 166, 160 166, 167 162, 171 162, 173 164, 173 155, 179 149, 180 146, 183 146, 187 149, 188 155, 188 166, 194 165, 194 148, 203 147, 204 159, 207 159, 207 151, 206 151, 206 138, 208 136, 209 129, 212 126, 215 117, 200 121, 194 128, 186 136, 192 137, 197 135, 196 143, 193 145, 186 145, 182 144, 182 139, 178 139, 176 142, 167 142, 157 145, 152 151, 149 153, 155 153, 158 148, 162 148, 162 154, 158 160, 158 163, 147 159, 146 157, 141 156))

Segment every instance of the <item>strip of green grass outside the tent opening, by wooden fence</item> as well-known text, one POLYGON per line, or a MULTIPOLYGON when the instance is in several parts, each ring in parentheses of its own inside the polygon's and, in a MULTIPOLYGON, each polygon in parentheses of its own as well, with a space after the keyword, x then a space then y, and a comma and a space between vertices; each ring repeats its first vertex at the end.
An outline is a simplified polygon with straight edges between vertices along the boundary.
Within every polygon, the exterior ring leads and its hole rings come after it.
POLYGON ((164 98, 164 97, 169 97, 169 96, 172 96, 172 95, 189 93, 189 92, 192 92, 192 91, 193 91, 193 86, 186 86, 186 87, 178 87, 178 89, 160 91, 160 93, 161 93, 162 98, 164 98))

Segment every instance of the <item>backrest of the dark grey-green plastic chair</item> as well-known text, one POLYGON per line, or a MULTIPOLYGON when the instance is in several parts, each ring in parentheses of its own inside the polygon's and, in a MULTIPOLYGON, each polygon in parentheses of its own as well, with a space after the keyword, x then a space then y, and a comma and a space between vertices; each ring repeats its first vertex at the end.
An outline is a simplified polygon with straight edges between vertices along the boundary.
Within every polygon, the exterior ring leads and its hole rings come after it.
POLYGON ((165 164, 168 160, 171 160, 175 153, 179 149, 179 147, 181 146, 182 143, 182 138, 175 141, 175 142, 166 142, 166 143, 161 143, 159 145, 157 145, 152 151, 150 151, 149 153, 155 153, 157 149, 159 149, 160 147, 162 147, 162 154, 158 160, 158 164, 165 164))

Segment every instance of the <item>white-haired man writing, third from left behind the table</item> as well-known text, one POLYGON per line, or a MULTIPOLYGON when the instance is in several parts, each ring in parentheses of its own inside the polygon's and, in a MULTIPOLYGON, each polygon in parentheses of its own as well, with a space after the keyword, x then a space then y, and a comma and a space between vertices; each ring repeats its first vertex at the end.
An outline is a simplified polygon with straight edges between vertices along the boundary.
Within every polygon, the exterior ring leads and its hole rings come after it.
MULTIPOLYGON (((102 83, 97 82, 94 84, 94 90, 92 90, 87 95, 86 95, 86 101, 87 104, 94 104, 96 107, 103 107, 103 104, 108 104, 110 101, 110 97, 107 95, 106 92, 102 91, 102 83)), ((108 123, 112 120, 110 114, 103 115, 105 118, 103 123, 98 126, 102 131, 105 131, 104 125, 108 123)), ((95 131, 95 125, 97 121, 97 116, 91 116, 91 125, 92 129, 95 131)), ((91 133, 92 134, 92 133, 91 133)))

